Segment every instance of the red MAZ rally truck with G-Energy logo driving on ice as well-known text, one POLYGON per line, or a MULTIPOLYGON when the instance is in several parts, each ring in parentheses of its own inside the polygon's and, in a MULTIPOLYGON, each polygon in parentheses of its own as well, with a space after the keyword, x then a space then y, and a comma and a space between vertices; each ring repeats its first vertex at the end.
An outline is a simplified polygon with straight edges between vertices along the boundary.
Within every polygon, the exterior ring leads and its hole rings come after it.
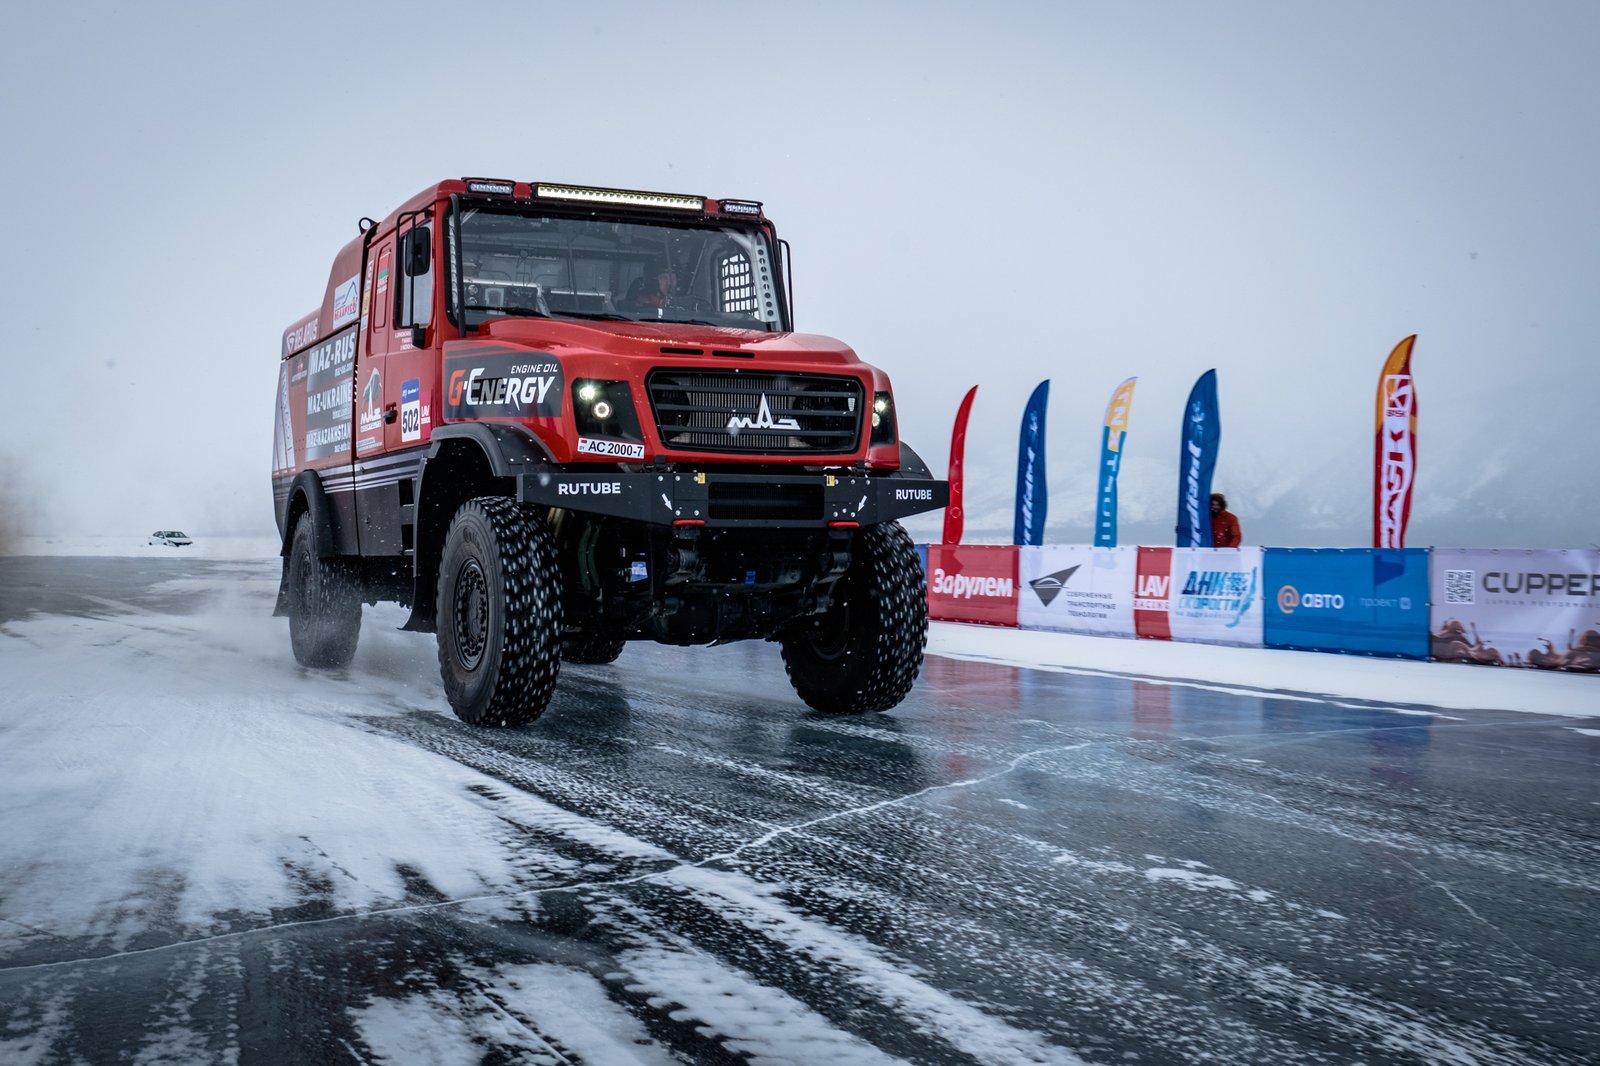
POLYGON ((949 485, 882 371, 792 331, 786 253, 752 200, 552 182, 362 219, 280 352, 294 658, 349 663, 395 600, 477 725, 627 640, 776 640, 810 706, 898 704, 928 627, 898 519, 949 485))

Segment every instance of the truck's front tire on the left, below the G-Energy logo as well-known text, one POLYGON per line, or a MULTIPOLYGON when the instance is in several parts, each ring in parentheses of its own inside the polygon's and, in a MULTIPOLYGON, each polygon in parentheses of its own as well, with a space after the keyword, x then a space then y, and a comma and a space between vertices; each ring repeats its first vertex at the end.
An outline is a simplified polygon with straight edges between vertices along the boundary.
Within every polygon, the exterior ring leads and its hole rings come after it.
POLYGON ((438 560, 438 674, 456 717, 523 725, 562 667, 562 576, 550 533, 504 496, 467 501, 438 560))

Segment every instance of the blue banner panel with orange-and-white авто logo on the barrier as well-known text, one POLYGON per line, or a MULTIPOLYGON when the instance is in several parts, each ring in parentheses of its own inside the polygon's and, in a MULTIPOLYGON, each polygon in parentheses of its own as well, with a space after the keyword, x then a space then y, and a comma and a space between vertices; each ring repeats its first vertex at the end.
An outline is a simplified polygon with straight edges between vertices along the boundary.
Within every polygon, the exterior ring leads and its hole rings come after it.
POLYGON ((1426 547, 1269 547, 1266 645, 1427 658, 1426 547))

